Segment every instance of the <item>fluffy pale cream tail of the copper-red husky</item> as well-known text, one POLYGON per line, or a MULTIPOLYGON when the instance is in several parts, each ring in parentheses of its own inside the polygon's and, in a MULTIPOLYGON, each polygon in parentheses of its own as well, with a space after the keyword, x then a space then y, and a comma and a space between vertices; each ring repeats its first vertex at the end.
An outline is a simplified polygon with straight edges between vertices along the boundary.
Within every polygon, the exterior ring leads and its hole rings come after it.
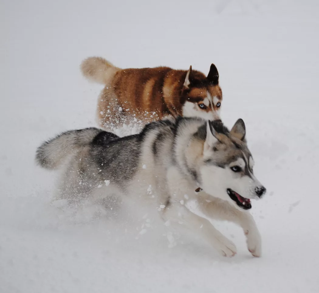
POLYGON ((82 74, 89 80, 108 84, 120 68, 100 57, 89 57, 82 61, 82 74))

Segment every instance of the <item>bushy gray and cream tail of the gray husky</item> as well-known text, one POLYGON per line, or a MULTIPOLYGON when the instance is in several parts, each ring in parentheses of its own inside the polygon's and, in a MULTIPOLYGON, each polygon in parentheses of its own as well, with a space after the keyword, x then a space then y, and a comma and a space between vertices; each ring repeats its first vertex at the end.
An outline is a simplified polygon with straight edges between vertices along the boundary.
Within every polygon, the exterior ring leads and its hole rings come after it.
POLYGON ((63 132, 42 143, 36 151, 35 159, 43 168, 54 169, 61 165, 73 150, 85 147, 102 131, 91 127, 63 132))

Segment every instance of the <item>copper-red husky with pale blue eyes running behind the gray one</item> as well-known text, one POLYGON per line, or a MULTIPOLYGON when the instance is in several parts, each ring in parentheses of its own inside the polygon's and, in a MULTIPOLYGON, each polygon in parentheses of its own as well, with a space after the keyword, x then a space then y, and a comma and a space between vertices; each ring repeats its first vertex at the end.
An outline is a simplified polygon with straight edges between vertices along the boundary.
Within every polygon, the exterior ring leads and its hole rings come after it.
POLYGON ((222 101, 219 74, 211 64, 207 77, 169 67, 121 69, 99 57, 81 64, 85 77, 105 85, 98 99, 101 127, 119 126, 127 118, 143 123, 166 115, 216 119, 222 101))

